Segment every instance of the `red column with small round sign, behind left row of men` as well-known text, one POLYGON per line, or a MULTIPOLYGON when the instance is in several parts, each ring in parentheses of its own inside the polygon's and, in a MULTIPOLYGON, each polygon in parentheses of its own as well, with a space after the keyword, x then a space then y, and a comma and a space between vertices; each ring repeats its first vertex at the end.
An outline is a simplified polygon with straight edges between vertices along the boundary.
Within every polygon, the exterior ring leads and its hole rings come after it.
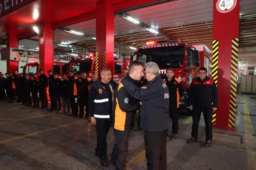
POLYGON ((45 74, 48 74, 48 70, 53 70, 54 32, 48 23, 41 25, 39 32, 39 69, 42 68, 45 74))

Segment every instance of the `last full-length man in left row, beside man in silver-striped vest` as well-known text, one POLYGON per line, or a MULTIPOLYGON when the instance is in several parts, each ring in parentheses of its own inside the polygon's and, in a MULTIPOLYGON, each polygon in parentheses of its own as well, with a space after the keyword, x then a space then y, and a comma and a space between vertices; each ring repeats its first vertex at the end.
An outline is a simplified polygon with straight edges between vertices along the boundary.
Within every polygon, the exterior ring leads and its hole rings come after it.
POLYGON ((79 116, 78 118, 83 118, 84 116, 84 106, 85 106, 85 119, 89 119, 89 108, 88 99, 90 86, 92 85, 92 80, 86 77, 86 73, 81 73, 81 79, 79 80, 79 116))

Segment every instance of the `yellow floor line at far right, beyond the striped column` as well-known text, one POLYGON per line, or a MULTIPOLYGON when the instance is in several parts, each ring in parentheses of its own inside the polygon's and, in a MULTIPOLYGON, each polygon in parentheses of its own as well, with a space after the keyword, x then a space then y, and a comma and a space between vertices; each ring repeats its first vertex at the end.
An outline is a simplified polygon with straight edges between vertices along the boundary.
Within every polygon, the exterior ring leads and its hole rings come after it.
MULTIPOLYGON (((244 114, 249 115, 249 108, 246 96, 244 95, 244 114)), ((250 143, 250 138, 252 138, 252 134, 254 134, 254 129, 251 123, 251 117, 244 115, 244 129, 245 129, 245 136, 244 141, 246 143, 250 143)), ((246 151, 247 156, 247 169, 256 170, 256 157, 254 152, 246 151)))

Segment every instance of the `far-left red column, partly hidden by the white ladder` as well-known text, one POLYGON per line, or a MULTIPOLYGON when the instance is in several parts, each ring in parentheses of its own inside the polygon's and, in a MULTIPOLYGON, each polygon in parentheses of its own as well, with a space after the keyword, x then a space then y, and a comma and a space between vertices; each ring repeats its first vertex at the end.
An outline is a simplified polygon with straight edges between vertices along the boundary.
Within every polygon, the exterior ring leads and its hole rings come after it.
MULTIPOLYGON (((9 43, 6 44, 6 47, 18 48, 18 40, 15 36, 15 32, 12 30, 9 33, 9 43)), ((7 72, 18 71, 19 69, 19 63, 14 63, 13 61, 6 61, 6 66, 7 72)))

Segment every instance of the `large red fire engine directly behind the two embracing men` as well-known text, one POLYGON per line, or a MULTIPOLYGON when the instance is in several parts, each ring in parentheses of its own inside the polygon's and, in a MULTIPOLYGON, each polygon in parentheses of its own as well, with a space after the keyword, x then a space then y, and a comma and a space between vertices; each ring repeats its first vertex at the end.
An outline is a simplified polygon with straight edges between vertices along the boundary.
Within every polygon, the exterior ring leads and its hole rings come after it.
POLYGON ((165 77, 167 68, 173 68, 174 77, 182 82, 183 96, 179 99, 180 108, 186 108, 189 86, 198 76, 200 67, 206 67, 207 76, 212 75, 212 52, 205 45, 189 45, 179 39, 147 42, 131 54, 130 60, 140 60, 145 63, 158 64, 161 77, 165 77))

